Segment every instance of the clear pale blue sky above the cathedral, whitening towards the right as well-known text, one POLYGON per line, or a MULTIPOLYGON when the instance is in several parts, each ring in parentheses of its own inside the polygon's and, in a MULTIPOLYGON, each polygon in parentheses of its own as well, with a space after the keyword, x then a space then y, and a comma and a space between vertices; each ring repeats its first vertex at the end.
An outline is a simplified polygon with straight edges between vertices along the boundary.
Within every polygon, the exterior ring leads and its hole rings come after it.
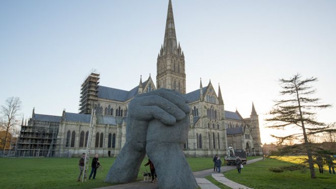
MULTIPOLYGON (((280 90, 278 78, 315 76, 317 96, 336 101, 336 1, 173 0, 184 50, 187 92, 220 83, 225 109, 263 120, 280 90)), ((80 85, 92 69, 100 84, 130 90, 155 82, 168 0, 0 0, 0 104, 22 100, 22 114, 78 112, 80 85)), ((336 121, 336 107, 319 111, 336 121)), ((290 132, 287 130, 286 132, 290 132)))

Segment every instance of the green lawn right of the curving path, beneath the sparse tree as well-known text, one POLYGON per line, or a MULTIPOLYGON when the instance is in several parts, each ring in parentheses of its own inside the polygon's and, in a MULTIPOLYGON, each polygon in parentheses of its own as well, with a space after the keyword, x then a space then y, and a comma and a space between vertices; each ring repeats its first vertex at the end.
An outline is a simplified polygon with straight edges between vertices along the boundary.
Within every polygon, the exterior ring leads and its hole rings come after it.
POLYGON ((336 175, 329 172, 320 174, 315 171, 317 178, 311 179, 309 170, 285 171, 283 173, 273 173, 270 167, 282 167, 293 165, 292 163, 278 159, 266 158, 265 161, 244 166, 241 174, 237 170, 231 170, 224 175, 235 182, 251 188, 335 188, 336 175))

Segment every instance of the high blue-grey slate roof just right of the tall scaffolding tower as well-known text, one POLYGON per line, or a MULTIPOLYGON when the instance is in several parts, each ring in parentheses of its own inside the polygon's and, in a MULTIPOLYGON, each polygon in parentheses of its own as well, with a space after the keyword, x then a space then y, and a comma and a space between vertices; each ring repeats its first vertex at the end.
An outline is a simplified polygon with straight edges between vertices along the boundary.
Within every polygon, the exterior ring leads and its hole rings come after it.
MULTIPOLYGON (((147 80, 146 82, 142 84, 143 88, 146 86, 146 84, 147 84, 147 80)), ((115 89, 115 88, 110 88, 110 87, 105 87, 105 86, 98 86, 98 97, 124 102, 128 99, 133 98, 138 93, 138 87, 139 86, 136 86, 130 91, 125 91, 125 90, 115 89)))

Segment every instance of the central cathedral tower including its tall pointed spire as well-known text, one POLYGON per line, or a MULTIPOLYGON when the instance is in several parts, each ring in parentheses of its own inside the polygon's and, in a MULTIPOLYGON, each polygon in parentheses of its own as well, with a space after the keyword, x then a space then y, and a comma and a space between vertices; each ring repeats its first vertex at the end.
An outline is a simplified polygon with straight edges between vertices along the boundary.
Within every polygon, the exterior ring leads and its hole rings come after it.
POLYGON ((177 44, 172 1, 169 1, 163 45, 157 57, 156 86, 185 94, 185 62, 180 43, 177 44))

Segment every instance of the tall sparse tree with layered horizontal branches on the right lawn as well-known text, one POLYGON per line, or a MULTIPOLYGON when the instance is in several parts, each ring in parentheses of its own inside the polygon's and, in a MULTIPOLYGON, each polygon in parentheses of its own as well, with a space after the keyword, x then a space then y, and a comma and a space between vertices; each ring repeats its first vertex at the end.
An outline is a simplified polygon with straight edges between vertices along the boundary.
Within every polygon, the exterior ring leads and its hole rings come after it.
MULTIPOLYGON (((312 98, 315 89, 310 85, 316 82, 316 77, 310 77, 301 80, 301 75, 296 74, 289 79, 279 79, 283 96, 281 100, 274 100, 273 109, 269 112, 272 118, 266 119, 274 123, 269 128, 284 129, 285 127, 298 128, 299 132, 291 133, 285 137, 272 136, 280 142, 289 140, 301 141, 302 145, 294 145, 291 150, 297 147, 303 147, 308 156, 309 169, 311 178, 316 178, 314 170, 314 161, 312 157, 312 143, 309 139, 313 139, 315 134, 330 129, 323 122, 316 120, 316 110, 324 109, 331 106, 330 104, 320 103, 319 98, 312 98)), ((302 148, 301 148, 302 149, 302 148)), ((301 151, 302 152, 302 151, 301 151)))

